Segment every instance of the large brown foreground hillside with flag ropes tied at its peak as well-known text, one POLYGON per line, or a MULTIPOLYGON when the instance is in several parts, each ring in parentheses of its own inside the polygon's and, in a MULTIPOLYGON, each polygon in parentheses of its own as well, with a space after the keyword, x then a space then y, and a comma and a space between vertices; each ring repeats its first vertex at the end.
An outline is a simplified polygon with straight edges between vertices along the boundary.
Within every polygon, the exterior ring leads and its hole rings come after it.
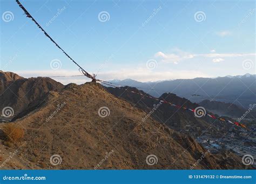
MULTIPOLYGON (((206 152, 191 137, 152 118, 142 121, 145 116, 144 111, 99 84, 69 84, 60 92, 50 91, 41 107, 14 122, 26 130, 15 155, 20 161, 17 166, 10 160, 3 168, 93 169, 98 165, 98 169, 189 169, 206 152), (106 117, 99 116, 102 107, 110 111, 101 114, 106 117), (104 160, 111 150, 113 154, 104 160), (50 163, 54 154, 60 155, 61 164, 50 163), (146 163, 150 154, 156 155, 157 164, 146 163)), ((232 153, 210 153, 194 168, 244 167, 232 153)))

